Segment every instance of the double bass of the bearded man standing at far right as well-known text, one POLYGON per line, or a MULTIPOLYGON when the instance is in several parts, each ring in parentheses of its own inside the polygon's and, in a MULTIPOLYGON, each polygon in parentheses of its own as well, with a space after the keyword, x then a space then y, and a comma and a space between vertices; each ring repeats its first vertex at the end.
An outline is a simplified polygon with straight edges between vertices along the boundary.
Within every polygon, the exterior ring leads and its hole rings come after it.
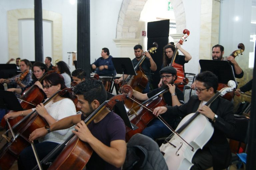
MULTIPOLYGON (((239 48, 239 50, 233 51, 233 52, 230 54, 230 56, 232 56, 232 57, 235 58, 236 56, 238 56, 238 54, 243 55, 242 53, 244 52, 244 49, 245 49, 244 44, 243 44, 243 43, 239 43, 238 46, 237 46, 237 48, 239 48)), ((228 61, 228 63, 230 64, 231 62, 228 61)), ((218 83, 218 89, 217 89, 217 90, 220 90, 220 89, 222 89, 222 88, 224 88, 224 87, 228 87, 228 85, 227 85, 227 84, 223 84, 223 83, 218 83)), ((224 99, 227 99, 227 100, 229 100, 229 101, 231 101, 231 100, 233 99, 233 97, 234 97, 234 92, 232 92, 232 93, 227 93, 227 94, 225 94, 225 95, 223 96, 224 99)))

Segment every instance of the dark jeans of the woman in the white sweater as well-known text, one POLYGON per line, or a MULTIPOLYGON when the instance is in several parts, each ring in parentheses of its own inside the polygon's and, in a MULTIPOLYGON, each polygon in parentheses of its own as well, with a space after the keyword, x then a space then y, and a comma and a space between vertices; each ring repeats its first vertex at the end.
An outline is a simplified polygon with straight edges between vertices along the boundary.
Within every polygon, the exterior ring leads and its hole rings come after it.
MULTIPOLYGON (((35 144, 39 160, 42 160, 45 156, 48 155, 48 153, 50 153, 58 145, 59 144, 55 142, 42 142, 35 144)), ((59 153, 57 153, 54 158, 56 158, 59 155, 59 153)), ((36 165, 37 162, 32 147, 28 146, 25 149, 23 149, 20 153, 20 156, 18 158, 18 169, 31 170, 36 165)))

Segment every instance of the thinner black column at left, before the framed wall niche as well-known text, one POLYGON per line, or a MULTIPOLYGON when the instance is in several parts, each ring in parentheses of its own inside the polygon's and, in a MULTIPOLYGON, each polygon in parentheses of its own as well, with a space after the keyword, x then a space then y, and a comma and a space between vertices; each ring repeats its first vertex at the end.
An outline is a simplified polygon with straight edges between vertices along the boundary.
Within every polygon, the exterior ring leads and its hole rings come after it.
POLYGON ((43 62, 42 0, 34 0, 35 11, 35 61, 43 62))

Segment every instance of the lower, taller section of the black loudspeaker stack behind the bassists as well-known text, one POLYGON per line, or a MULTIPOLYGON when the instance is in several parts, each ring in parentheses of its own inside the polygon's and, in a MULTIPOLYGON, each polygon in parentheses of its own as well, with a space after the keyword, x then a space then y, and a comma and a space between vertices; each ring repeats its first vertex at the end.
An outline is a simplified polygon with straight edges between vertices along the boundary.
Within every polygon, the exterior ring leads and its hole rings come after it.
POLYGON ((157 70, 151 71, 151 83, 153 85, 153 89, 158 88, 158 83, 160 81, 160 75, 159 71, 161 70, 162 64, 163 64, 163 48, 168 43, 168 37, 161 37, 161 38, 148 38, 148 49, 153 47, 153 42, 156 42, 158 44, 158 48, 156 50, 156 53, 151 54, 153 60, 156 63, 157 70))

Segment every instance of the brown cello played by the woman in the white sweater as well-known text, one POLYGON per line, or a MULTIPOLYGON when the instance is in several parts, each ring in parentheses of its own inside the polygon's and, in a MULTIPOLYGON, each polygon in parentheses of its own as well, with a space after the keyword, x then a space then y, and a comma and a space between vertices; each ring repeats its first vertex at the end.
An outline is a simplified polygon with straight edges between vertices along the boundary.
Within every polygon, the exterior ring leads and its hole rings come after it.
MULTIPOLYGON (((43 104, 46 105, 57 95, 63 96, 65 93, 71 91, 71 88, 59 90, 43 104)), ((8 170, 14 161, 17 160, 21 151, 30 145, 28 140, 30 133, 35 129, 44 127, 45 125, 47 125, 47 122, 35 110, 10 127, 15 134, 0 150, 0 168, 2 170, 8 170)), ((10 129, 3 135, 7 134, 9 131, 10 129)))

